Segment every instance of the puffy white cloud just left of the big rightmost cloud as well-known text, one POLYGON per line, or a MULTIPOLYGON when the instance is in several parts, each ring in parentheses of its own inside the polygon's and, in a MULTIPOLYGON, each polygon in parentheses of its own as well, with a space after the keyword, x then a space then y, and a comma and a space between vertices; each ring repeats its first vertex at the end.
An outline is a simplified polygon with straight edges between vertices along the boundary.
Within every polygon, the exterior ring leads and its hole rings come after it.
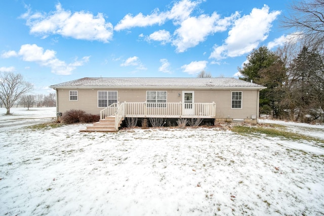
POLYGON ((221 19, 214 12, 211 16, 203 14, 199 17, 189 17, 175 31, 176 38, 172 44, 176 46, 177 52, 184 52, 188 48, 195 47, 200 42, 205 41, 208 35, 225 31, 237 16, 238 13, 236 12, 230 17, 221 19))

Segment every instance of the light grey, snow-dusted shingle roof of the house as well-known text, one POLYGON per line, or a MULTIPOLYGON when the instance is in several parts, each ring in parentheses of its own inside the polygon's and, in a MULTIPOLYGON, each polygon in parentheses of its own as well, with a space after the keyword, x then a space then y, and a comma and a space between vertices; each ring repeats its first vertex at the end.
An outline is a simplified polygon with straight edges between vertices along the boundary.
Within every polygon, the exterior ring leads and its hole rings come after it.
POLYGON ((262 85, 236 79, 236 78, 108 78, 108 77, 85 77, 68 82, 51 85, 50 88, 66 87, 161 87, 161 88, 260 88, 262 85))

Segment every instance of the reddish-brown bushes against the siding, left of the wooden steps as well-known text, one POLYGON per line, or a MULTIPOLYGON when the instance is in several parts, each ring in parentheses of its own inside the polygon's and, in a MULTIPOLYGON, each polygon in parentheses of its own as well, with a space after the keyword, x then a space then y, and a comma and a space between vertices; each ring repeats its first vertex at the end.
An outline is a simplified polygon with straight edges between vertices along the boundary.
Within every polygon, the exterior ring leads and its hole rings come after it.
POLYGON ((66 124, 73 124, 77 122, 90 123, 99 121, 99 115, 88 114, 83 110, 71 109, 62 115, 62 121, 66 124))

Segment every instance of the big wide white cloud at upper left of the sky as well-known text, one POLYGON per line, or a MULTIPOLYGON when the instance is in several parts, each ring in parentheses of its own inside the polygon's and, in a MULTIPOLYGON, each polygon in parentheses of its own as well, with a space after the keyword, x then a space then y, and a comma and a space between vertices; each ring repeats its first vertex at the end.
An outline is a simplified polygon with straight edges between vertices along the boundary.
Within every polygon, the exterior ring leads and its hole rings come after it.
POLYGON ((60 34, 65 37, 108 42, 113 35, 111 23, 105 21, 103 14, 97 16, 89 12, 65 11, 61 4, 56 5, 56 11, 48 14, 27 13, 21 16, 26 19, 30 33, 47 37, 50 34, 60 34))

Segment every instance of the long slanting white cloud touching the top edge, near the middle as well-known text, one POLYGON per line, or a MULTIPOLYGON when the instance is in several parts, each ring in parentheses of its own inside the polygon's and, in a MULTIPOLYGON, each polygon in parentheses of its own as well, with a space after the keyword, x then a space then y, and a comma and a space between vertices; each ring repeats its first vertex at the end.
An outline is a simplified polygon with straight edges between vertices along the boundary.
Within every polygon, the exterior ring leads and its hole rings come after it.
POLYGON ((120 31, 134 27, 146 27, 156 24, 161 25, 171 19, 177 23, 188 17, 196 5, 196 2, 182 0, 175 3, 170 11, 159 12, 158 9, 155 9, 150 15, 139 13, 136 16, 133 16, 132 14, 127 14, 117 23, 114 30, 120 31))

